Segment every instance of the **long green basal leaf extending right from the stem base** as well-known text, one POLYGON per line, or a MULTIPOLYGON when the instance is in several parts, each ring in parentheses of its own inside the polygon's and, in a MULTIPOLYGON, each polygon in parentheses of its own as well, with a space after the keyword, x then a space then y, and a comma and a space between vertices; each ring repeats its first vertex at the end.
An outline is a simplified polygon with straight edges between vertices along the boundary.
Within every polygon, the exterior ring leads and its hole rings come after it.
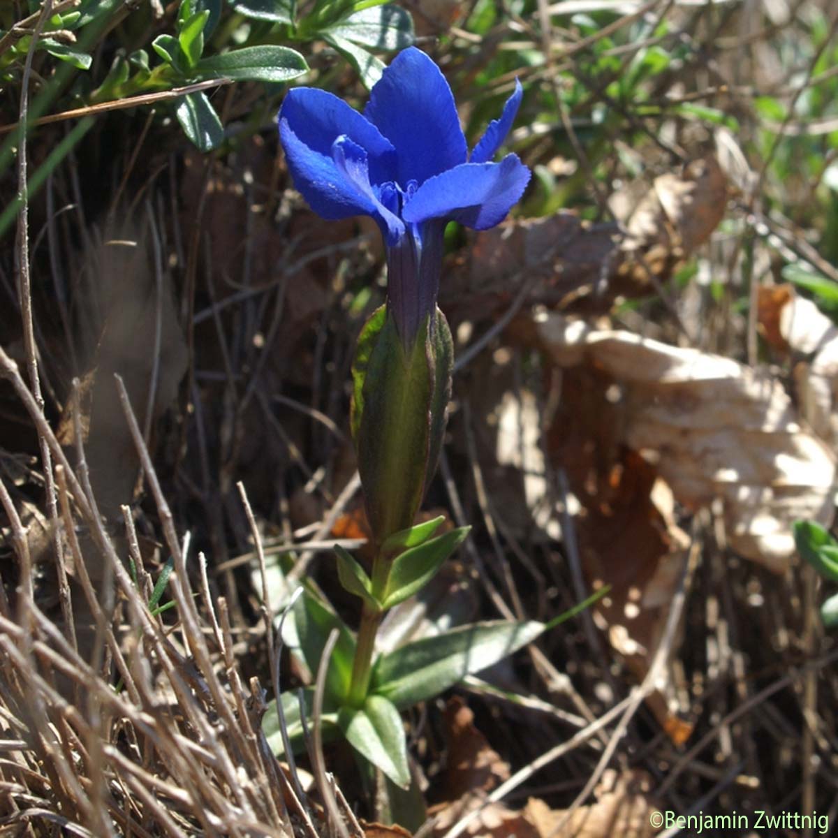
POLYGON ((544 623, 500 620, 416 640, 380 657, 370 692, 400 709, 427 701, 532 643, 544 628, 544 623))

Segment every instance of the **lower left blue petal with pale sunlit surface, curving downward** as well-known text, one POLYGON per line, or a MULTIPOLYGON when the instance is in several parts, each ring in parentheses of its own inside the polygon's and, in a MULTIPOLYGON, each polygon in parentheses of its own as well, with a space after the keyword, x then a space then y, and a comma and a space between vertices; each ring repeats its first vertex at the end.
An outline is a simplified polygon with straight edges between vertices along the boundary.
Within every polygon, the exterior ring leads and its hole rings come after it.
MULTIPOLYGON (((350 159, 355 159, 355 162, 347 164, 340 154, 338 154, 339 161, 331 156, 331 147, 328 157, 319 151, 314 151, 297 137, 287 119, 280 120, 279 135, 282 138, 282 147, 285 149, 294 186, 318 215, 328 220, 349 218, 352 215, 372 215, 382 225, 384 216, 381 210, 384 208, 375 199, 370 188, 366 155, 359 145, 352 143, 353 150, 349 155, 350 159), (357 162, 361 154, 364 154, 363 167, 357 162), (361 168, 366 175, 365 183, 360 173, 361 168)), ((352 142, 348 137, 343 139, 346 143, 352 142)), ((337 145, 339 140, 339 137, 335 138, 332 145, 337 145)), ((387 212, 387 210, 384 211, 387 212)), ((388 215, 392 214, 388 213, 388 215)), ((389 232, 389 226, 384 221, 382 230, 388 229, 389 232)))

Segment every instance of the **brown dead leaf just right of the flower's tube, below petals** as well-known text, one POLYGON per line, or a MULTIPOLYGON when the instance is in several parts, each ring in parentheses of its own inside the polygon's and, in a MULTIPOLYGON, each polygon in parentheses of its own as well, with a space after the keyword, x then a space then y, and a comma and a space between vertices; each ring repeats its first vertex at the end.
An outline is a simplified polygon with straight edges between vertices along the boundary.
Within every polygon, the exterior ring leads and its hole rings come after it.
POLYGON ((447 269, 440 298, 448 318, 456 325, 508 308, 523 282, 532 283, 529 304, 577 313, 605 313, 618 296, 646 294, 709 239, 724 217, 727 181, 708 156, 650 187, 629 184, 612 204, 620 224, 592 225, 562 210, 474 235, 468 255, 447 269))

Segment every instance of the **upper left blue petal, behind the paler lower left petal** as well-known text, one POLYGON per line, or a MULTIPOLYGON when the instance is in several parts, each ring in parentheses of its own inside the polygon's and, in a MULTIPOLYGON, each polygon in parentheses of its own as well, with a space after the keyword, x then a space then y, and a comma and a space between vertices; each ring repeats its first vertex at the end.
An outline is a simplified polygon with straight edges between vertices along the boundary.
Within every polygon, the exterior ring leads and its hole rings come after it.
POLYGON ((338 137, 349 137, 365 149, 372 183, 396 178, 396 149, 391 142, 337 96, 313 87, 296 87, 282 102, 278 119, 283 145, 283 121, 304 146, 326 157, 332 156, 332 145, 338 137))

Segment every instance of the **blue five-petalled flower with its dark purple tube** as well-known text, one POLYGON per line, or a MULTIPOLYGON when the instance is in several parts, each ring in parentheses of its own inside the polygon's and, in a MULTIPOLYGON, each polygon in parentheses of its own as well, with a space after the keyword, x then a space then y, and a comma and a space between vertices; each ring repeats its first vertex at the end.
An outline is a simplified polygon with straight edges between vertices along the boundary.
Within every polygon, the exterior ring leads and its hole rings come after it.
POLYGON ((387 305, 410 345, 436 311, 448 220, 473 230, 499 224, 530 170, 515 154, 492 163, 522 91, 468 154, 451 88, 432 59, 403 50, 370 91, 364 114, 325 91, 288 93, 279 135, 294 185, 323 218, 371 215, 387 246, 387 305))

